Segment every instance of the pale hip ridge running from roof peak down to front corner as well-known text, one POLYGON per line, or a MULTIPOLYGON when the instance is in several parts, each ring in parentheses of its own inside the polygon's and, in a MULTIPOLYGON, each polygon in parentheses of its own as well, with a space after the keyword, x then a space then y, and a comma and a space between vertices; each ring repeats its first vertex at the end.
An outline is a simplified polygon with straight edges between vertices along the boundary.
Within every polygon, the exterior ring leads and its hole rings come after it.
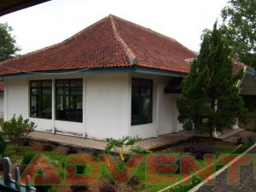
POLYGON ((127 55, 131 66, 137 65, 137 57, 136 55, 131 51, 131 49, 128 47, 128 45, 125 43, 124 39, 119 36, 119 32, 117 31, 117 28, 114 24, 113 15, 108 15, 111 26, 113 29, 114 37, 119 41, 119 43, 122 45, 122 47, 125 49, 125 54, 127 55))

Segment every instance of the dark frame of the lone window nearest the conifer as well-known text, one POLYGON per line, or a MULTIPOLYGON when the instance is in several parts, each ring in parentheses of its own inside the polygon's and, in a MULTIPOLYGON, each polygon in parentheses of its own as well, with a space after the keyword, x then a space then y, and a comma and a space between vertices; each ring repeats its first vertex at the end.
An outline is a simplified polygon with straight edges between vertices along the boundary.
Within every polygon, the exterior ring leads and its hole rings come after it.
POLYGON ((146 125, 146 124, 151 124, 153 123, 153 79, 142 79, 142 78, 131 78, 131 126, 133 125, 146 125), (133 80, 138 80, 139 81, 139 86, 136 87, 138 88, 139 90, 139 93, 138 93, 138 100, 139 100, 139 103, 138 103, 138 113, 139 113, 139 118, 137 120, 137 122, 135 122, 133 119, 132 119, 132 99, 133 99, 133 84, 132 84, 132 81, 133 80), (146 86, 143 86, 142 85, 142 82, 149 82, 150 83, 150 87, 146 87, 146 86), (150 108, 149 108, 149 119, 143 119, 143 108, 140 108, 143 106, 143 98, 147 98, 148 96, 142 96, 142 90, 143 89, 150 89, 150 108))

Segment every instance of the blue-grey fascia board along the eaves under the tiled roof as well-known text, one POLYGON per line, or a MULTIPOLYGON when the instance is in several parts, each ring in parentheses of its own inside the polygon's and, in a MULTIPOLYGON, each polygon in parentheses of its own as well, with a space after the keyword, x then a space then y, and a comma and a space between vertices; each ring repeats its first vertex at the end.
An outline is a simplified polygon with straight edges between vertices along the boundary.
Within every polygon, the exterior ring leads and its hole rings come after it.
POLYGON ((5 79, 32 78, 43 75, 67 75, 70 74, 96 74, 96 73, 145 73, 152 75, 161 75, 169 77, 183 78, 187 73, 169 72, 159 69, 151 69, 144 67, 113 67, 113 68, 95 68, 95 69, 80 69, 80 70, 63 70, 63 71, 47 71, 36 73, 18 73, 0 76, 0 82, 5 79))

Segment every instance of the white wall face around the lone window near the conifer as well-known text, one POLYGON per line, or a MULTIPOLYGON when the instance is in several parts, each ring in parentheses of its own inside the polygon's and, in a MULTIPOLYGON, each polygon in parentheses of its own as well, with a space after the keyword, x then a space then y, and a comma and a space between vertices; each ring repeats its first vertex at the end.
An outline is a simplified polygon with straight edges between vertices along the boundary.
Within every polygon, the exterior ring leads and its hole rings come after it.
MULTIPOLYGON (((151 124, 145 125, 131 125, 130 122, 131 136, 158 137, 180 130, 180 127, 177 127, 177 120, 173 124, 173 115, 176 115, 177 118, 176 98, 172 94, 166 94, 164 91, 171 78, 146 74, 132 74, 131 78, 153 79, 153 121, 151 124)), ((129 97, 131 98, 131 79, 129 89, 129 97)), ((129 110, 131 111, 131 104, 129 105, 129 110)), ((129 119, 131 119, 131 113, 129 119)))

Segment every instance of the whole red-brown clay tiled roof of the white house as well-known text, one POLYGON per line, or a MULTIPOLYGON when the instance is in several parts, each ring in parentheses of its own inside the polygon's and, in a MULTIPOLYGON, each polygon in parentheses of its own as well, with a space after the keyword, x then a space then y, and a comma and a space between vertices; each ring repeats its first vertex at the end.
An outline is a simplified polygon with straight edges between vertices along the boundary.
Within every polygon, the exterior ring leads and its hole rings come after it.
POLYGON ((60 44, 0 62, 0 76, 131 66, 189 73, 185 60, 195 56, 172 38, 109 15, 60 44))

